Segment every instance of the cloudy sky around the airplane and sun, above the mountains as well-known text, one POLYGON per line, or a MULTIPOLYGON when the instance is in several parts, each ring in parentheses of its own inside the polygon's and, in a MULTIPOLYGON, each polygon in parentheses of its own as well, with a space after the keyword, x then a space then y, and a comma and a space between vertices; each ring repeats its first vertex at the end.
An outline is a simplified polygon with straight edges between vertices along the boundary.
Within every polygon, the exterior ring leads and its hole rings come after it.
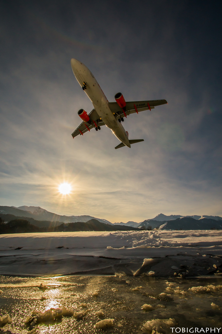
POLYGON ((222 8, 218 1, 2 0, 0 205, 111 222, 222 216, 222 8), (72 139, 92 104, 70 59, 109 102, 166 99, 72 139), (71 184, 68 195, 59 184, 71 184))

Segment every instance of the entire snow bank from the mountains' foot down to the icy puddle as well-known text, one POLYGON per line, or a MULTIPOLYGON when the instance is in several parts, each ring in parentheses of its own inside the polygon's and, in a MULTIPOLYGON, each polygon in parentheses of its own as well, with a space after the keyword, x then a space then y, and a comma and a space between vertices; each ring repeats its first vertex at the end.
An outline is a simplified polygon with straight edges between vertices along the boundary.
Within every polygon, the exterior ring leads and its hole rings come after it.
MULTIPOLYGON (((172 268, 177 268, 175 276, 183 277, 188 273, 194 276, 195 271, 200 274, 200 268, 182 270, 180 265, 182 263, 183 266, 185 257, 197 256, 201 257, 199 262, 209 261, 209 268, 215 271, 215 275, 221 275, 221 254, 222 230, 2 234, 0 274, 114 275, 118 273, 115 265, 119 266, 121 273, 120 263, 124 260, 132 265, 128 272, 126 268, 123 270, 127 275, 137 276, 146 272, 150 276, 163 276, 165 272, 167 276, 174 274, 172 268), (209 254, 215 256, 213 263, 209 254), (180 263, 178 255, 183 256, 180 263), (175 261, 170 257, 165 259, 166 256, 174 256, 175 261), (163 259, 166 260, 164 263, 163 259), (138 262, 141 260, 143 263, 138 262), (136 262, 138 267, 133 267, 136 262)), ((207 271, 202 275, 206 274, 207 271)))

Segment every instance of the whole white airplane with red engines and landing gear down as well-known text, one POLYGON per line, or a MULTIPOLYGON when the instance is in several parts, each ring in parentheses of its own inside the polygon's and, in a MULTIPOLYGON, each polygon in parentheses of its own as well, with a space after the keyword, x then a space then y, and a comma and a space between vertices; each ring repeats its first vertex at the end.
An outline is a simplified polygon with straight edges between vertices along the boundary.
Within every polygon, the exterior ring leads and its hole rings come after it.
POLYGON ((129 139, 128 132, 124 129, 122 122, 124 118, 130 114, 137 113, 144 110, 154 109, 156 106, 166 104, 166 100, 152 100, 152 101, 133 101, 126 102, 122 93, 115 95, 116 102, 108 102, 105 94, 101 90, 98 82, 90 70, 79 60, 71 59, 72 71, 76 80, 82 87, 83 91, 92 102, 94 109, 87 114, 85 110, 78 111, 82 123, 72 133, 72 138, 83 135, 85 132, 95 128, 100 130, 102 125, 106 125, 112 130, 113 134, 121 141, 115 149, 120 147, 131 147, 131 144, 144 141, 144 139, 129 139))

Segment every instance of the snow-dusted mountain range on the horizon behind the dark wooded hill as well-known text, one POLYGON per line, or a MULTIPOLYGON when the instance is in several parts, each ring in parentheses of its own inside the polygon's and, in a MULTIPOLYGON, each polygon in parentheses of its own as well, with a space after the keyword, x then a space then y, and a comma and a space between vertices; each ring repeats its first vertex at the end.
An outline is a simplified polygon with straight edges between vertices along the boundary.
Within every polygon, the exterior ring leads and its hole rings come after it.
POLYGON ((17 218, 30 218, 28 219, 32 224, 38 220, 39 227, 45 227, 49 225, 58 226, 60 223, 73 223, 73 222, 88 222, 91 219, 96 219, 101 223, 117 226, 128 226, 134 228, 161 228, 161 229, 222 229, 222 217, 209 216, 209 215, 165 215, 163 213, 158 214, 154 218, 146 219, 142 222, 128 221, 127 223, 116 222, 111 223, 106 219, 95 218, 89 215, 81 216, 66 216, 58 215, 53 212, 49 212, 40 206, 0 206, 0 217, 4 220, 11 220, 17 218), (6 216, 7 215, 7 216, 6 216), (12 216, 13 215, 13 216, 12 216), (3 217, 4 216, 4 217, 3 217), (53 222, 50 224, 49 222, 53 222), (189 227, 189 228, 188 228, 189 227))

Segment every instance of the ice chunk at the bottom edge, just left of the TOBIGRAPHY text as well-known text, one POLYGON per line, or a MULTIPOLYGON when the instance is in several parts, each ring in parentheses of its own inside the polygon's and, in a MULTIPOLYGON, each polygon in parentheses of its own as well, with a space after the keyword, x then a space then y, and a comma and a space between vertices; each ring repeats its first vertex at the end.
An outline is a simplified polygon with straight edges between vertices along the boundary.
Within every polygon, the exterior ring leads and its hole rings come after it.
POLYGON ((153 319, 149 320, 144 324, 144 329, 149 333, 168 333, 170 327, 175 326, 175 319, 153 319))

